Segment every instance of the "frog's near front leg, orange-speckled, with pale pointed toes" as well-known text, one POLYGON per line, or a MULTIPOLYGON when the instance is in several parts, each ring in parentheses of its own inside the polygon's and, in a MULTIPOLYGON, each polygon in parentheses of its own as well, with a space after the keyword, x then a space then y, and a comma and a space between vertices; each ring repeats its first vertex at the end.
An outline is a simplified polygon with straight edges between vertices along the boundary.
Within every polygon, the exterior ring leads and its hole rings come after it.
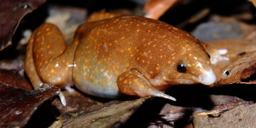
POLYGON ((132 69, 117 78, 117 86, 119 90, 126 95, 137 95, 139 97, 164 97, 169 100, 176 99, 164 94, 152 87, 146 78, 139 71, 132 69))

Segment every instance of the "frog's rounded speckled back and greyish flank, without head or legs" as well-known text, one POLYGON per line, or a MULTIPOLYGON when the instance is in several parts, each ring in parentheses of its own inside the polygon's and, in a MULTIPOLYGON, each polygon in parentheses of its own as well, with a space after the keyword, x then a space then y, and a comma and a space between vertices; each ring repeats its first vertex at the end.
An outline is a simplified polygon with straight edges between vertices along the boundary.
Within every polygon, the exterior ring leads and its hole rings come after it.
POLYGON ((161 63, 161 53, 171 54, 174 50, 169 47, 191 39, 196 40, 166 23, 139 16, 84 23, 75 35, 80 46, 75 53, 73 79, 78 88, 91 95, 116 97, 118 75, 131 68, 145 74, 152 65, 161 63), (152 56, 156 58, 153 62, 149 60, 152 56), (145 63, 149 66, 144 67, 145 63))

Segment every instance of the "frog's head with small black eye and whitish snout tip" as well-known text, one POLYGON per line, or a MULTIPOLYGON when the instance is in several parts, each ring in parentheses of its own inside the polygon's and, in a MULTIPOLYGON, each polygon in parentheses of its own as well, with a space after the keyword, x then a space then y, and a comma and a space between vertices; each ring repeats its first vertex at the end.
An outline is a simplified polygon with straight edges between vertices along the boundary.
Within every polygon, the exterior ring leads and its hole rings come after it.
POLYGON ((172 84, 213 84, 216 77, 210 64, 210 55, 206 53, 200 41, 191 40, 178 47, 180 48, 175 51, 178 58, 174 58, 170 69, 174 73, 168 73, 169 80, 166 81, 172 84))

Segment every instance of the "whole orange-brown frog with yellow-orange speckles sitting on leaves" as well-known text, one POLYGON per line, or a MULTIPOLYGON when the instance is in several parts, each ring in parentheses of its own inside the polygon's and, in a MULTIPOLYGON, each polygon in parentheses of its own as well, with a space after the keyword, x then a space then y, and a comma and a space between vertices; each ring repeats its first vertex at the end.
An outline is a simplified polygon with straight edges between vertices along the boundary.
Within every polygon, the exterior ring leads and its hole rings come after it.
POLYGON ((43 82, 60 87, 75 84, 99 97, 122 92, 175 100, 160 90, 215 82, 209 55, 198 39, 140 16, 83 23, 68 46, 58 28, 45 23, 30 38, 25 71, 35 88, 43 82))

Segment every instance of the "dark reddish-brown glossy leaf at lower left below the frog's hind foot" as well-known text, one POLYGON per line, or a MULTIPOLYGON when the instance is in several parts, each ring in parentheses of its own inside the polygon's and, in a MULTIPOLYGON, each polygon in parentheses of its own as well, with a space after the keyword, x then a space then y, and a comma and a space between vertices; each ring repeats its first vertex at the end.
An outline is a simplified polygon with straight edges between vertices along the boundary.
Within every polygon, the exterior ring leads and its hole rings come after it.
POLYGON ((43 102, 59 93, 58 87, 28 91, 0 84, 0 127, 23 127, 43 102))

